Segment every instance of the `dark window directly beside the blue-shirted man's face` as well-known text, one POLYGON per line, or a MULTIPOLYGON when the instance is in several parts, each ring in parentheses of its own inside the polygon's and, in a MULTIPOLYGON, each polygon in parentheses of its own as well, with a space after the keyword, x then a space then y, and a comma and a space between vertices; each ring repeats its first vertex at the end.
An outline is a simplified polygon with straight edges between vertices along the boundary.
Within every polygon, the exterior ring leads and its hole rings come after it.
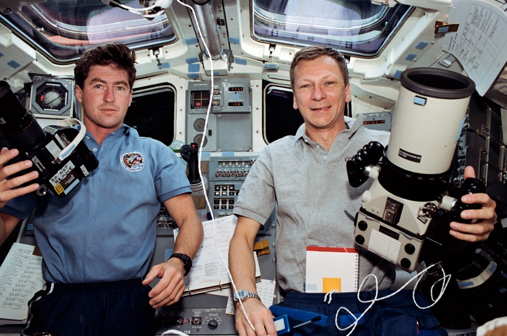
POLYGON ((174 92, 169 85, 134 90, 124 123, 137 129, 140 136, 170 145, 175 136, 174 92))

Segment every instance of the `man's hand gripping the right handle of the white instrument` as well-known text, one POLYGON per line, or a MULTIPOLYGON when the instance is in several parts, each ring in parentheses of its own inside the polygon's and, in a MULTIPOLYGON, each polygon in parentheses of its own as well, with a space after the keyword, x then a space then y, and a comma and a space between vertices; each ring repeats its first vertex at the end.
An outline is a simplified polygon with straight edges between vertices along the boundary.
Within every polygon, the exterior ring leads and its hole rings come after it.
MULTIPOLYGON (((474 168, 468 166, 465 168, 463 177, 475 178, 474 168)), ((495 207, 496 203, 487 194, 468 194, 461 197, 461 201, 466 204, 481 204, 480 209, 470 209, 461 212, 461 218, 471 220, 470 224, 450 223, 451 231, 449 233, 460 239, 469 242, 486 240, 494 229, 496 221, 495 207)))

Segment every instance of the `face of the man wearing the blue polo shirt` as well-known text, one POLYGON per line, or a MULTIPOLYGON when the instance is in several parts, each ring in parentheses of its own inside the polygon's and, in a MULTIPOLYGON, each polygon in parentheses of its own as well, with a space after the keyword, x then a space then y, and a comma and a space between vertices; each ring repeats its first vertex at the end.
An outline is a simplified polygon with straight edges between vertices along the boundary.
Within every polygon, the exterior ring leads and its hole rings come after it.
POLYGON ((92 65, 83 87, 76 86, 76 98, 83 104, 83 120, 88 130, 115 131, 123 124, 132 102, 127 71, 109 65, 92 65))

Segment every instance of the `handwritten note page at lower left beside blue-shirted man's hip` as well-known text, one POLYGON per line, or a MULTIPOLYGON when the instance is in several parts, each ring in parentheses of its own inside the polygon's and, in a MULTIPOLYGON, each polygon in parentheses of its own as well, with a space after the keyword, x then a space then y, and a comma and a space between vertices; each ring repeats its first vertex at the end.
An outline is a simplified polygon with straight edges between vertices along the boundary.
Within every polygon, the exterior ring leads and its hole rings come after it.
MULTIPOLYGON (((28 301, 44 286, 42 257, 33 255, 35 246, 14 243, 0 267, 0 318, 24 320, 28 301)), ((13 321, 14 323, 14 321, 13 321)))

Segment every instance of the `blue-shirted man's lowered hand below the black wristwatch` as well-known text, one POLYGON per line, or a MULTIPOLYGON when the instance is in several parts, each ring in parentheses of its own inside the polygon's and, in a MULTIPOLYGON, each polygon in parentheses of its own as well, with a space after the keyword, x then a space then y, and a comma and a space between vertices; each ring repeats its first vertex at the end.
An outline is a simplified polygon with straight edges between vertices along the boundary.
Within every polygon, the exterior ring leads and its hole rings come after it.
POLYGON ((149 293, 150 305, 153 308, 158 308, 177 303, 185 289, 184 274, 183 263, 178 258, 171 258, 163 264, 153 266, 143 280, 143 285, 148 285, 155 278, 160 278, 160 281, 149 293))

